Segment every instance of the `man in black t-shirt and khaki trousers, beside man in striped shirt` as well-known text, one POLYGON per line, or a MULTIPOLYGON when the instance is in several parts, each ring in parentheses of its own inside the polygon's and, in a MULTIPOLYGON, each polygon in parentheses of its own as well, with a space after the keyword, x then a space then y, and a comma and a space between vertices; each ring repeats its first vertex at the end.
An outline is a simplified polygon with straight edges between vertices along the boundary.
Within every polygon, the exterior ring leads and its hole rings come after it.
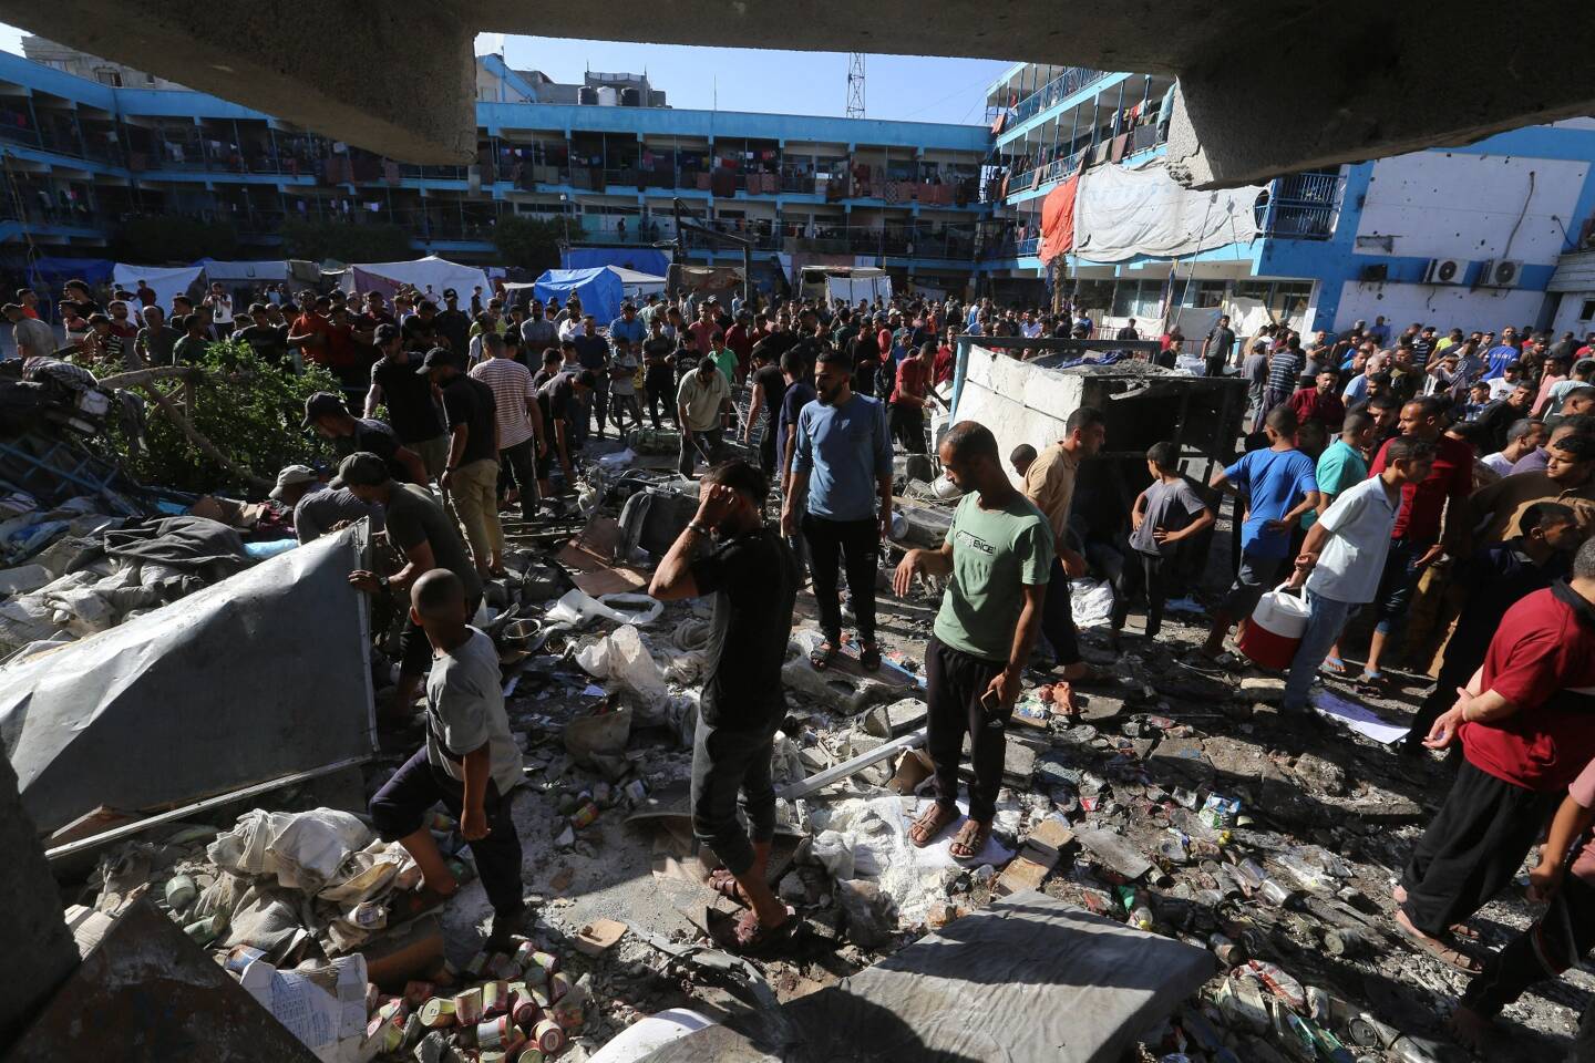
POLYGON ((442 347, 426 352, 418 370, 437 387, 448 422, 448 464, 437 483, 455 499, 471 556, 483 579, 504 574, 504 529, 498 521, 498 411, 493 389, 459 371, 459 359, 442 347))

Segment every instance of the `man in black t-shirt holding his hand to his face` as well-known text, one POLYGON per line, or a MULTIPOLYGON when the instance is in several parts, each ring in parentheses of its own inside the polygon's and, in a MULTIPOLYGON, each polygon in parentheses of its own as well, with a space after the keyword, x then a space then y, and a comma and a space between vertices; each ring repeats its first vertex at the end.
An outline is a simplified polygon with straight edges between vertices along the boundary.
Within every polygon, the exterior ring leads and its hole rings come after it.
POLYGON ((654 571, 660 601, 713 594, 715 615, 697 733, 692 741, 692 832, 724 864, 710 885, 750 910, 737 921, 740 948, 788 939, 798 918, 769 885, 775 837, 770 751, 786 716, 782 665, 798 599, 798 559, 762 520, 769 484, 735 459, 700 480, 699 512, 654 571), (713 535, 711 551, 699 555, 713 535), (737 821, 737 792, 751 838, 737 821))

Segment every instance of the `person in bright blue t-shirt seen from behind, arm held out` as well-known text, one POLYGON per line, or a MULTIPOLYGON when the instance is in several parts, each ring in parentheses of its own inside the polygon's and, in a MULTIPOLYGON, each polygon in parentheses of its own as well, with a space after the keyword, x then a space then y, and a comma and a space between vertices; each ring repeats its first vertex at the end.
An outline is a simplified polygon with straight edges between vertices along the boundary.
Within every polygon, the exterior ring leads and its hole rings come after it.
POLYGON ((1252 615, 1257 599, 1279 574, 1297 521, 1317 508, 1313 459, 1295 448, 1295 411, 1290 406, 1268 411, 1263 432, 1268 449, 1246 454, 1212 478, 1220 491, 1246 492, 1246 523, 1241 524, 1241 567, 1235 585, 1214 609, 1207 642, 1196 650, 1207 661, 1219 660, 1230 626, 1252 615))

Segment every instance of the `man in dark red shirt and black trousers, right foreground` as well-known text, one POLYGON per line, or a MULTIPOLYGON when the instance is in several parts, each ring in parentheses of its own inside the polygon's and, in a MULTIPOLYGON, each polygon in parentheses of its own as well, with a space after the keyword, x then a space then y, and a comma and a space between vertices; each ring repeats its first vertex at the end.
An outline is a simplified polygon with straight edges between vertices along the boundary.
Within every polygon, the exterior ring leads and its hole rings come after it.
POLYGON ((1424 746, 1461 738, 1456 783, 1402 872, 1396 926, 1461 971, 1442 934, 1512 881, 1541 827, 1595 757, 1595 539, 1573 577, 1512 606, 1483 666, 1424 746))

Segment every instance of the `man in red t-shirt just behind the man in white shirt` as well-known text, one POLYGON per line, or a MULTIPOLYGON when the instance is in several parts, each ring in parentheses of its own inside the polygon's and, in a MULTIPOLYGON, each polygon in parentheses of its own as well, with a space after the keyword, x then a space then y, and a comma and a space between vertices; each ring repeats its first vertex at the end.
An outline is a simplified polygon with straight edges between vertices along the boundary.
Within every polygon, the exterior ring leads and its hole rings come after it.
MULTIPOLYGON (((1474 448, 1445 435, 1442 418, 1442 402, 1434 395, 1413 398, 1400 408, 1400 433, 1434 445, 1434 470, 1423 483, 1408 483, 1400 489, 1400 512, 1391 532, 1391 551, 1384 559, 1378 598, 1373 599, 1376 623, 1369 639, 1364 684, 1386 682, 1380 660, 1392 633, 1400 628, 1407 610, 1412 609, 1413 591, 1423 571, 1445 553, 1447 543, 1442 542, 1440 526, 1447 512, 1455 520, 1445 537, 1456 539, 1463 531, 1461 516, 1467 512, 1467 496, 1474 489, 1474 448)), ((1370 477, 1384 472, 1388 449, 1389 443, 1380 448, 1369 469, 1370 477)))

